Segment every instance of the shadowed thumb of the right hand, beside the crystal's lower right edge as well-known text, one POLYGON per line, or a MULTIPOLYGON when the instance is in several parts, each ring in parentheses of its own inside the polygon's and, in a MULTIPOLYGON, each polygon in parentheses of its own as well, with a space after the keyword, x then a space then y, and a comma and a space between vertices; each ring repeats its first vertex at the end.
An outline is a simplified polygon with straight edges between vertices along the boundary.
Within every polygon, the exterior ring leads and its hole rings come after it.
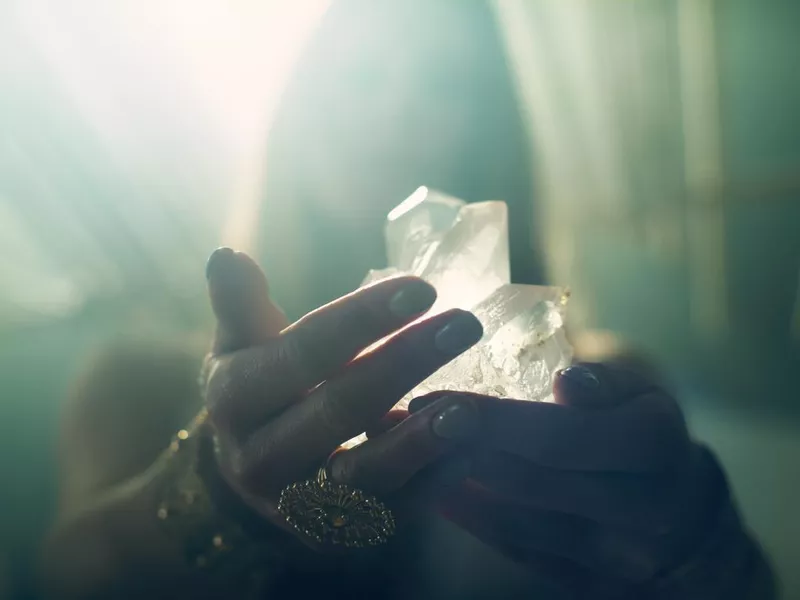
POLYGON ((557 404, 606 408, 656 389, 654 381, 621 366, 579 363, 560 371, 553 385, 557 404))

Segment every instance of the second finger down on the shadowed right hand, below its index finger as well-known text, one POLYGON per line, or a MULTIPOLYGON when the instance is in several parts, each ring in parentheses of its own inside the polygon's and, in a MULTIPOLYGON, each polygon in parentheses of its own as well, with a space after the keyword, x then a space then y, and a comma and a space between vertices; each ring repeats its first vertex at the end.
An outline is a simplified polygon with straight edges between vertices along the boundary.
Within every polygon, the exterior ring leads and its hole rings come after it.
POLYGON ((514 504, 648 534, 672 527, 686 490, 683 474, 561 471, 496 451, 474 454, 469 476, 514 504))

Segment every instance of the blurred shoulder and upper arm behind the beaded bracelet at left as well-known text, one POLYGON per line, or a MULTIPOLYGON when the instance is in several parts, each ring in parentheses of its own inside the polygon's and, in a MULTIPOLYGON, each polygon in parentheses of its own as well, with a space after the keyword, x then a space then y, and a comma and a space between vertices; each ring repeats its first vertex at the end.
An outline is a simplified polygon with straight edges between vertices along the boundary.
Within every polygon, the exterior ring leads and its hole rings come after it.
POLYGON ((197 412, 194 354, 158 341, 121 342, 86 361, 59 425, 62 513, 144 471, 197 412))

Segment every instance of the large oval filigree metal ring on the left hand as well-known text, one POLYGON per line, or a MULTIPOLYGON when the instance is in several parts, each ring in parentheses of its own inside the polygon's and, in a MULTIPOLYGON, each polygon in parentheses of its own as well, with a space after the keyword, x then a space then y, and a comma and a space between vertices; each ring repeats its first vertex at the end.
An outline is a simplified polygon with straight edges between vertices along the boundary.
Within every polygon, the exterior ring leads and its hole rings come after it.
POLYGON ((382 502, 331 482, 324 466, 315 478, 284 488, 278 511, 296 531, 324 545, 377 546, 395 530, 394 515, 382 502))

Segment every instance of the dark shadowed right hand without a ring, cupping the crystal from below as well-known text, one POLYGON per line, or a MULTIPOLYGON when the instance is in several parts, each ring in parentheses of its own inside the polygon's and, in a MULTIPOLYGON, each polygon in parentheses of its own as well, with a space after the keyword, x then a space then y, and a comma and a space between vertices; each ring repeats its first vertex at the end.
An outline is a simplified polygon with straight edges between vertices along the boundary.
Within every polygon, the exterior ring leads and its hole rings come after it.
MULTIPOLYGON (((412 401, 412 415, 435 397, 412 401)), ((478 407, 484 442, 441 510, 507 556, 599 598, 630 593, 703 541, 725 486, 654 384, 595 364, 563 371, 555 404, 458 397, 478 407)))

